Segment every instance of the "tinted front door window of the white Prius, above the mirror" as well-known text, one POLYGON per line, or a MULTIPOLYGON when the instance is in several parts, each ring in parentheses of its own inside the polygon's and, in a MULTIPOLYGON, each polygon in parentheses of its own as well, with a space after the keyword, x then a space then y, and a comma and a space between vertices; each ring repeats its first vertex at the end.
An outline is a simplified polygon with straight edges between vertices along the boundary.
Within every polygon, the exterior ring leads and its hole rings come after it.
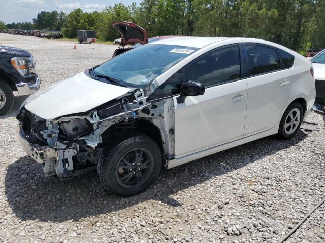
POLYGON ((226 47, 197 58, 184 68, 184 82, 218 85, 240 78, 239 47, 226 47))

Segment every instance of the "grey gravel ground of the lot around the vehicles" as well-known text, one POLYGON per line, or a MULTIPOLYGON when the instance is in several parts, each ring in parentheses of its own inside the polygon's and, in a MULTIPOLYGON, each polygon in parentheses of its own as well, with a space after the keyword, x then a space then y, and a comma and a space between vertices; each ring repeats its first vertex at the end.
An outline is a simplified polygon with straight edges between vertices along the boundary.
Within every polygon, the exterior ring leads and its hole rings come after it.
MULTIPOLYGON (((100 64, 116 46, 0 34, 32 52, 42 87, 100 64)), ((324 197, 325 116, 288 141, 267 137, 161 171, 140 195, 109 194, 95 172, 47 178, 0 117, 0 242, 278 242, 324 197), (199 166, 198 166, 199 165, 199 166)), ((325 242, 325 205, 287 242, 325 242)))

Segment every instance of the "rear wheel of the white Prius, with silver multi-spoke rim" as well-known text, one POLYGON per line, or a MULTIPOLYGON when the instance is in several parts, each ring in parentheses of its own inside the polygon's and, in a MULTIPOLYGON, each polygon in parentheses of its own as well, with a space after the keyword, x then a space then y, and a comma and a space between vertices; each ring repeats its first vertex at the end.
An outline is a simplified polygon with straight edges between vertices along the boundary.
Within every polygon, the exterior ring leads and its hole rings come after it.
POLYGON ((285 110, 280 121, 278 135, 282 139, 290 139, 298 132, 303 121, 304 110, 300 103, 293 102, 285 110))

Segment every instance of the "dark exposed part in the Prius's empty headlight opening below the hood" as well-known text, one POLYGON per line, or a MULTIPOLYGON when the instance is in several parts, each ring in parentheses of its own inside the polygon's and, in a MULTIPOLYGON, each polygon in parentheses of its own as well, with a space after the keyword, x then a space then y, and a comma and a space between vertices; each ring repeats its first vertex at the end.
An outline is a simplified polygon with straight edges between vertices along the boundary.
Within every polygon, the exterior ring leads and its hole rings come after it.
POLYGON ((87 119, 72 119, 60 123, 61 138, 73 140, 91 132, 92 126, 87 119), (63 136, 62 136, 63 135, 63 136))

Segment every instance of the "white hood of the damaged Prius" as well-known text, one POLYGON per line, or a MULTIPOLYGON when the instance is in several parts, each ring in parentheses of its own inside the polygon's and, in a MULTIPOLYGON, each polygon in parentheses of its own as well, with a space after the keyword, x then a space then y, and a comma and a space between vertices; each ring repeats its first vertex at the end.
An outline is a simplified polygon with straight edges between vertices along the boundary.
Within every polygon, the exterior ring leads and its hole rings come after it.
POLYGON ((131 89, 105 84, 81 72, 26 99, 26 109, 43 119, 89 111, 131 89))

